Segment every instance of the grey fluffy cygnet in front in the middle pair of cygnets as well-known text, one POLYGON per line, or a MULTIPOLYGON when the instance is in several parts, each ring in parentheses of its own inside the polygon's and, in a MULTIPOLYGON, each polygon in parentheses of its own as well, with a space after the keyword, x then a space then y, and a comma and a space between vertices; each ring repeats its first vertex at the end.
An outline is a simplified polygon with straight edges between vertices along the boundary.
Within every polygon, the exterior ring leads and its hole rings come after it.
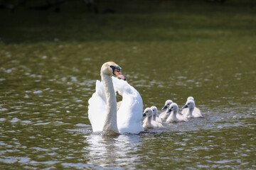
POLYGON ((176 122, 177 123, 177 122, 182 122, 182 121, 188 121, 187 118, 183 117, 180 114, 177 114, 178 113, 178 105, 176 103, 171 103, 167 113, 171 113, 171 114, 167 118, 166 122, 169 122, 169 123, 176 122))

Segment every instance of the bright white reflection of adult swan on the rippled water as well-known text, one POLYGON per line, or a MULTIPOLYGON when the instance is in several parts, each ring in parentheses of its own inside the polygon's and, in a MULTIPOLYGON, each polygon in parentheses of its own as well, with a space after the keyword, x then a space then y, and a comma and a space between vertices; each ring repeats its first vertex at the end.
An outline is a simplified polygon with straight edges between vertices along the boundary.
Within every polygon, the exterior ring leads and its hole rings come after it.
POLYGON ((114 167, 114 169, 132 168, 137 159, 137 150, 142 146, 139 135, 119 135, 107 137, 92 134, 85 142, 87 164, 96 167, 114 167))

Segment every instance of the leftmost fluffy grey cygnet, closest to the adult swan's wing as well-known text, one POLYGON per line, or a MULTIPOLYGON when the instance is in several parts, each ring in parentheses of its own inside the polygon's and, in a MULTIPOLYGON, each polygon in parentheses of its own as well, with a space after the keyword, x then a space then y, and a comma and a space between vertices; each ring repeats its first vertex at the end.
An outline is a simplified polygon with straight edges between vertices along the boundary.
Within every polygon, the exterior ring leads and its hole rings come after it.
POLYGON ((143 116, 146 116, 146 118, 143 121, 143 128, 163 128, 163 125, 159 125, 159 123, 156 123, 155 121, 152 121, 153 119, 153 111, 151 108, 145 108, 143 116))

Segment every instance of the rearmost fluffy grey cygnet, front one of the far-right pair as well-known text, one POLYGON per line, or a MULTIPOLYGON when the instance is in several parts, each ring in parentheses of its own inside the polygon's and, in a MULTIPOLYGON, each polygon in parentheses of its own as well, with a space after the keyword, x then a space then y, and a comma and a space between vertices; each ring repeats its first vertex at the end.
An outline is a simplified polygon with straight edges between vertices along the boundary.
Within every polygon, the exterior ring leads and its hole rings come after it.
POLYGON ((198 118, 202 117, 201 111, 196 108, 196 104, 193 100, 186 101, 186 105, 182 107, 182 109, 186 109, 186 112, 183 115, 186 118, 198 118))

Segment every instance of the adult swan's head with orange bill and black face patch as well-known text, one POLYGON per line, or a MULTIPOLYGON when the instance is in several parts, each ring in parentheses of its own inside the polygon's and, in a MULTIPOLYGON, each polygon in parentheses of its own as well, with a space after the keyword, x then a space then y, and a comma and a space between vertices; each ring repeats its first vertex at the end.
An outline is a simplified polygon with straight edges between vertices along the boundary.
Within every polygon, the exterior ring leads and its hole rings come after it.
POLYGON ((126 80, 122 75, 122 68, 119 65, 115 64, 114 62, 105 62, 102 64, 100 69, 100 74, 105 74, 107 76, 117 76, 120 79, 126 80))

